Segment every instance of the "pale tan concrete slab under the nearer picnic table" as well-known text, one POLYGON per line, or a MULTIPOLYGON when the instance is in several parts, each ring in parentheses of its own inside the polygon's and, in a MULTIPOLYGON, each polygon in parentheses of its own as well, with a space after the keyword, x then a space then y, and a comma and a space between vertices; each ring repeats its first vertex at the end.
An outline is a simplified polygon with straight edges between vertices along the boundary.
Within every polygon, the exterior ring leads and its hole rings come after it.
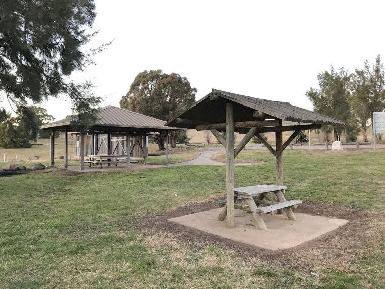
POLYGON ((230 240, 269 250, 288 249, 313 240, 348 223, 348 220, 311 216, 295 213, 296 221, 285 214, 261 214, 267 231, 261 231, 251 213, 235 210, 235 228, 226 227, 227 221, 216 218, 222 208, 189 214, 169 219, 187 227, 195 228, 230 240))

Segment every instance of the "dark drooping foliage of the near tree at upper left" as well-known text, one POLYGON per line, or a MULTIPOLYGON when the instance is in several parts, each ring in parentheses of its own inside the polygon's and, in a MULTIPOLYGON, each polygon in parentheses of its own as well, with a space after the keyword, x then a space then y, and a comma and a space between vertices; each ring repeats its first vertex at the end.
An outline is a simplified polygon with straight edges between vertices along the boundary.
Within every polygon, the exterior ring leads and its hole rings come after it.
POLYGON ((95 16, 93 0, 1 1, 0 93, 16 107, 60 95, 69 96, 77 113, 96 106, 91 82, 68 79, 105 47, 82 50, 95 35, 87 33, 95 16))

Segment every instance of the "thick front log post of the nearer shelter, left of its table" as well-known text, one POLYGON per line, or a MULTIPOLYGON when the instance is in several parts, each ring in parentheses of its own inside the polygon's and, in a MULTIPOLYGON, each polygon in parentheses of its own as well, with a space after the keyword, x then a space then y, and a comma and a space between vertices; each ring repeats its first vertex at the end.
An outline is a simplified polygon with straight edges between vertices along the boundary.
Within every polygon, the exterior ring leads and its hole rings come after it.
POLYGON ((227 227, 234 228, 234 115, 232 103, 226 103, 226 192, 227 227))

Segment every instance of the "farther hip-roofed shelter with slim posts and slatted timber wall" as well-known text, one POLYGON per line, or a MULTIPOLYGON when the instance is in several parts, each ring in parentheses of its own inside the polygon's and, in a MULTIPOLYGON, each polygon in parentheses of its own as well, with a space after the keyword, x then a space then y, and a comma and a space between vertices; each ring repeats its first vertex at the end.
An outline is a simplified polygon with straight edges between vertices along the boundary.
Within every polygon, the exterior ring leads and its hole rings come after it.
POLYGON ((68 135, 76 135, 75 155, 80 157, 80 167, 91 165, 147 164, 148 136, 166 133, 166 166, 168 166, 168 142, 171 130, 163 120, 126 109, 106 106, 92 112, 92 122, 81 125, 77 116, 42 125, 40 129, 51 130, 50 166, 55 164, 55 133, 64 132, 65 168, 68 167, 68 135), (130 153, 127 153, 130 152, 130 153))

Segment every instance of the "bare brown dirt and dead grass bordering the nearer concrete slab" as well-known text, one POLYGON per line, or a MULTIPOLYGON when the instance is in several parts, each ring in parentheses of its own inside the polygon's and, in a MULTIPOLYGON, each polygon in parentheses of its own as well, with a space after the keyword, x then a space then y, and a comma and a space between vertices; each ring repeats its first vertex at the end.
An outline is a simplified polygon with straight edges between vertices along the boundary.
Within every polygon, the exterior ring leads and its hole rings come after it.
POLYGON ((144 233, 146 231, 150 233, 159 231, 173 233, 175 238, 198 249, 215 245, 224 250, 237 252, 243 257, 274 261, 278 266, 292 270, 310 272, 314 267, 321 266, 352 272, 355 269, 353 260, 362 254, 369 240, 380 238, 381 231, 385 227, 382 221, 385 218, 384 212, 365 212, 329 204, 303 203, 298 206, 296 212, 347 219, 349 223, 340 229, 294 248, 266 250, 168 221, 170 218, 217 207, 216 204, 208 202, 147 216, 139 224, 139 228, 144 233))

